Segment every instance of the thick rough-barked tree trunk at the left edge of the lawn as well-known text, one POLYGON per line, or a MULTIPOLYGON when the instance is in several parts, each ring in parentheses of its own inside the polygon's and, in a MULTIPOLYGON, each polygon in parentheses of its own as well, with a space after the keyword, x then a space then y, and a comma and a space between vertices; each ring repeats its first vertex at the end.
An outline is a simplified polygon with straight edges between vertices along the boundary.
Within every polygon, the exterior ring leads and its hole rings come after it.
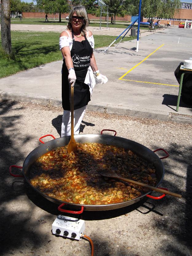
POLYGON ((1 1, 1 41, 4 51, 11 55, 10 0, 1 1))

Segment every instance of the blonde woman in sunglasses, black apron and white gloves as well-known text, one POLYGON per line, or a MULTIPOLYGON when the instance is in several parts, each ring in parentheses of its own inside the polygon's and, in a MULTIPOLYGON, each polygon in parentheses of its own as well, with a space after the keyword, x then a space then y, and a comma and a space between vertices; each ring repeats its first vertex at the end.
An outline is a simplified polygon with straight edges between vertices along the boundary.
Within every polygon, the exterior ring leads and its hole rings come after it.
POLYGON ((74 134, 79 134, 80 124, 95 83, 103 84, 108 81, 97 68, 93 54, 93 35, 91 31, 86 30, 88 24, 84 6, 76 6, 69 14, 68 30, 60 35, 59 46, 63 54, 62 106, 64 109, 61 137, 71 135, 71 85, 74 85, 74 134))

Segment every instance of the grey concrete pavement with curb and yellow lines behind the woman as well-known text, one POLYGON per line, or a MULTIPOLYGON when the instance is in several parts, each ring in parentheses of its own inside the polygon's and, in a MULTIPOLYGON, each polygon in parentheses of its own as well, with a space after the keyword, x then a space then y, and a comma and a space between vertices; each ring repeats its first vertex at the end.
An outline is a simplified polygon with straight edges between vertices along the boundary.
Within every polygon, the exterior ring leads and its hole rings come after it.
MULTIPOLYGON (((178 82, 174 77, 179 63, 192 57, 188 53, 192 31, 158 32, 141 37, 138 53, 136 40, 106 52, 105 48, 94 51, 108 83, 95 86, 87 109, 192 124, 191 106, 181 101, 175 111, 178 82)), ((1 98, 61 106, 61 66, 62 61, 56 61, 0 79, 1 98)))

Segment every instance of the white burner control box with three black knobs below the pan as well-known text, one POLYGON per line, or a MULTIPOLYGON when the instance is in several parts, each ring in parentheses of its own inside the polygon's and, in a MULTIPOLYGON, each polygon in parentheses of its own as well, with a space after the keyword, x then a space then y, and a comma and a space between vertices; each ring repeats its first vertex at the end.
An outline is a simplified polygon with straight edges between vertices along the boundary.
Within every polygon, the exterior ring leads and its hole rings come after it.
POLYGON ((52 224, 52 233, 55 235, 79 240, 85 230, 85 221, 68 216, 58 215, 52 224))

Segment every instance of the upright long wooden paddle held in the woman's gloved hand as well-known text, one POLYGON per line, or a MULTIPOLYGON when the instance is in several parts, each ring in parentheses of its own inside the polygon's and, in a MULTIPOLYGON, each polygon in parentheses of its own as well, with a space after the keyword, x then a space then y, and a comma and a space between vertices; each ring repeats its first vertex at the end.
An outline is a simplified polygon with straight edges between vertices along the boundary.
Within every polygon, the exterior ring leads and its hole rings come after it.
POLYGON ((70 108, 71 108, 71 139, 69 141, 68 147, 67 147, 67 152, 68 153, 75 153, 77 152, 77 144, 74 139, 74 84, 71 84, 71 103, 70 103, 70 108))

